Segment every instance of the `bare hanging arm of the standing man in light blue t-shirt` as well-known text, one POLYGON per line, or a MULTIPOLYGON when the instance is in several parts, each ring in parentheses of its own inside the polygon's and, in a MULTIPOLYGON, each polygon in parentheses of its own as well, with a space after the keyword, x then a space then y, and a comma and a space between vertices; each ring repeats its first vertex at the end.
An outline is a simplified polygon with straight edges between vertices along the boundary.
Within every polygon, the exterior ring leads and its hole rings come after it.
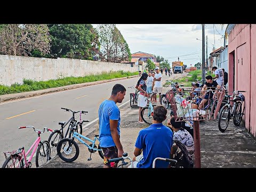
POLYGON ((109 120, 109 125, 110 125, 110 132, 111 136, 115 142, 115 145, 118 149, 118 157, 122 157, 124 154, 123 146, 120 142, 119 134, 117 132, 117 126, 118 126, 118 120, 109 120))

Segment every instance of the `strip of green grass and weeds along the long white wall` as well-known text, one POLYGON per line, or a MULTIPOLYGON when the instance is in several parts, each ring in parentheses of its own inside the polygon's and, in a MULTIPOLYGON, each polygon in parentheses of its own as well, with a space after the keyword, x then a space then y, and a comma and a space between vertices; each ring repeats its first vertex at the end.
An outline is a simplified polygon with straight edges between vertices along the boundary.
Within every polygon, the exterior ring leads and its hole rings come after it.
POLYGON ((101 73, 99 75, 89 75, 84 77, 64 77, 59 79, 51 79, 49 81, 33 81, 31 79, 23 79, 23 83, 14 83, 11 86, 0 85, 0 95, 11 94, 11 93, 21 93, 27 91, 36 91, 49 89, 54 87, 61 87, 65 85, 73 85, 79 83, 95 82, 113 78, 121 78, 138 75, 138 71, 135 73, 116 71, 110 73, 101 73))

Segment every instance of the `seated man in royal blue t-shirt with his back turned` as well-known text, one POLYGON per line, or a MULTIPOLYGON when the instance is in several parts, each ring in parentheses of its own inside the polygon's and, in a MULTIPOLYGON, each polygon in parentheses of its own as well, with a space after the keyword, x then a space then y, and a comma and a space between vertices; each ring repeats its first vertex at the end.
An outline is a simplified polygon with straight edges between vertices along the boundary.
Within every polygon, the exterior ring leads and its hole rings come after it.
MULTIPOLYGON (((173 132, 162 123, 166 119, 166 114, 167 109, 164 106, 155 106, 151 113, 153 124, 140 130, 135 142, 135 157, 132 162, 134 168, 152 168, 156 157, 170 158, 173 132)), ((168 162, 156 161, 155 167, 167 168, 168 165, 168 162)), ((129 168, 131 167, 130 165, 129 168)))

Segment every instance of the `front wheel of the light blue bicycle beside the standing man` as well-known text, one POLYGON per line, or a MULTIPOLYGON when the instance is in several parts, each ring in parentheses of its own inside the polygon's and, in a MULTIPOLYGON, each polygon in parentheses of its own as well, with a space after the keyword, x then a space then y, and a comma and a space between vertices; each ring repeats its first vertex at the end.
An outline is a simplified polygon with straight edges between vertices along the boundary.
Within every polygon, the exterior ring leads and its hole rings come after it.
POLYGON ((79 155, 79 147, 73 139, 64 138, 57 145, 57 153, 63 161, 73 162, 79 155))

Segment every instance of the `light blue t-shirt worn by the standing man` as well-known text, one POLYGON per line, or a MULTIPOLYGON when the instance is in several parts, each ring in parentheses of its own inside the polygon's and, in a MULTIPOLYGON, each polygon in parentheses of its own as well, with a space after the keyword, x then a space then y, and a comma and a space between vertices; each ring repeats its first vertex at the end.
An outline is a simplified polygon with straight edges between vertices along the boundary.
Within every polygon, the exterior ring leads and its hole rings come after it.
POLYGON ((118 120, 117 132, 120 135, 120 110, 115 101, 104 100, 99 107, 99 140, 101 147, 116 146, 110 132, 110 119, 118 120))

